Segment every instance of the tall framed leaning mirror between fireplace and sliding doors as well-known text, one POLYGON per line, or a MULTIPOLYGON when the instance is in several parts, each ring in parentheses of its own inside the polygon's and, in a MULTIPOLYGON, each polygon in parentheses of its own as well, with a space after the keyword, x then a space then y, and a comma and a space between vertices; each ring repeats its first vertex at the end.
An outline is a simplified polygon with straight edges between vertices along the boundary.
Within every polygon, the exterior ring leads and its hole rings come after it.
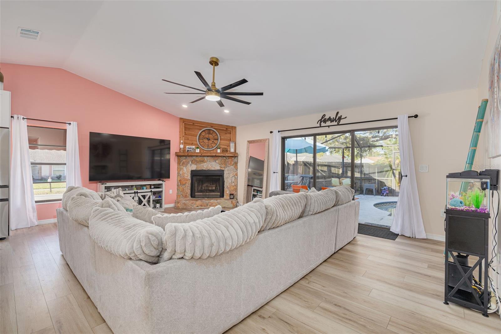
POLYGON ((245 188, 243 203, 252 202, 255 198, 265 198, 266 177, 268 174, 268 139, 247 140, 245 157, 245 188))

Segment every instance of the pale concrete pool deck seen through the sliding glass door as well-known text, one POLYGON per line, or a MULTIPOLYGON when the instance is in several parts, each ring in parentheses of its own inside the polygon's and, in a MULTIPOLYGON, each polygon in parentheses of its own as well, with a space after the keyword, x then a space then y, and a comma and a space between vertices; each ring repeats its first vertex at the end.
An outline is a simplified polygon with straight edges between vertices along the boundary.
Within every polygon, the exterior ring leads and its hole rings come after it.
POLYGON ((384 211, 374 207, 374 204, 380 202, 396 202, 396 196, 373 196, 373 195, 355 195, 360 202, 359 223, 362 224, 377 224, 382 226, 391 226, 393 216, 389 216, 388 211, 384 211))

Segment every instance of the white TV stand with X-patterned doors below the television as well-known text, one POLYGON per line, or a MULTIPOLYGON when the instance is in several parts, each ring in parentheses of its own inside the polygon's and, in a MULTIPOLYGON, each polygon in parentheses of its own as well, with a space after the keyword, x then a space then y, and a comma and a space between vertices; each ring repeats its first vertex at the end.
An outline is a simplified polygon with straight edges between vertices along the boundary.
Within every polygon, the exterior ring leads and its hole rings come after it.
POLYGON ((123 182, 98 182, 97 189, 100 193, 122 188, 124 194, 129 195, 134 201, 143 206, 155 210, 165 208, 165 181, 123 181, 123 182), (143 187, 150 189, 142 189, 143 187), (157 208, 157 204, 159 207, 157 208))

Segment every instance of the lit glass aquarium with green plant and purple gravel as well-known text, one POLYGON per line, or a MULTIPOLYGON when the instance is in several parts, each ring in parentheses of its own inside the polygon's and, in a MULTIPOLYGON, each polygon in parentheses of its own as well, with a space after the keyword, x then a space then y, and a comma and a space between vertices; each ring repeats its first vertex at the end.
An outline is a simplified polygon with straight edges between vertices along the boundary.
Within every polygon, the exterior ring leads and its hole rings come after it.
POLYGON ((489 213, 489 178, 447 178, 447 209, 489 213))

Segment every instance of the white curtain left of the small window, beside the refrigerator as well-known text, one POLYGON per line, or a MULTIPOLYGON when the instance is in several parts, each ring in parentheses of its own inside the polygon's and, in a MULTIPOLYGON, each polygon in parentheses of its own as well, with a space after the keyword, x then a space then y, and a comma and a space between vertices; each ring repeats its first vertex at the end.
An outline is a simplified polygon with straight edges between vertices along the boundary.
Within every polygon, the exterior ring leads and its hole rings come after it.
POLYGON ((23 116, 12 120, 11 230, 37 225, 37 207, 28 146, 28 128, 23 116))

